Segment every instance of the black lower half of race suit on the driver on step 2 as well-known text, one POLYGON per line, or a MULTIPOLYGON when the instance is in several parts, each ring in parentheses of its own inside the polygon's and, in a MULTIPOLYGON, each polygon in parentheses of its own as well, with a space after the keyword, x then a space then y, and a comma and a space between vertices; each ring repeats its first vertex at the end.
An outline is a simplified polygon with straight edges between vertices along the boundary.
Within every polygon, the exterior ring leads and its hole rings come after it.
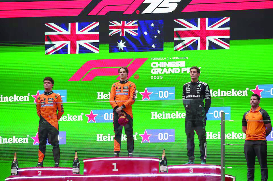
POLYGON ((46 139, 49 144, 52 145, 53 149, 53 157, 55 163, 60 163, 60 147, 59 147, 59 130, 57 130, 54 126, 49 124, 43 118, 40 116, 39 121, 39 129, 38 129, 38 135, 39 135, 39 162, 44 161, 44 157, 46 155, 46 139))

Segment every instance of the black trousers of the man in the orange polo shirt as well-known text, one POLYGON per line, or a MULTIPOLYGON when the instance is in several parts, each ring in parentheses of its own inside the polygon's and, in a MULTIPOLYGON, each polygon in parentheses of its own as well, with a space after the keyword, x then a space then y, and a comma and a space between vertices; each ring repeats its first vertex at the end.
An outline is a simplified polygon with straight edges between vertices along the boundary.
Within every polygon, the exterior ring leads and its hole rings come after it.
POLYGON ((262 181, 268 179, 266 140, 245 140, 245 159, 247 160, 247 181, 254 181, 256 156, 261 166, 262 181))

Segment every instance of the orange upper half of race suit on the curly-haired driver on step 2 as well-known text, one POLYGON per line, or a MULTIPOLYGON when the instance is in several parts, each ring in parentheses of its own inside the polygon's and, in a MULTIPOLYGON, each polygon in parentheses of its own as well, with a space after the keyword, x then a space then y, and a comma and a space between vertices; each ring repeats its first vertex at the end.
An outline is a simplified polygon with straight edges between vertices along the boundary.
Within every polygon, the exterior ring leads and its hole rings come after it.
POLYGON ((39 117, 42 116, 45 118, 49 124, 58 130, 58 120, 63 115, 63 100, 61 95, 53 91, 41 94, 37 98, 36 109, 39 117))

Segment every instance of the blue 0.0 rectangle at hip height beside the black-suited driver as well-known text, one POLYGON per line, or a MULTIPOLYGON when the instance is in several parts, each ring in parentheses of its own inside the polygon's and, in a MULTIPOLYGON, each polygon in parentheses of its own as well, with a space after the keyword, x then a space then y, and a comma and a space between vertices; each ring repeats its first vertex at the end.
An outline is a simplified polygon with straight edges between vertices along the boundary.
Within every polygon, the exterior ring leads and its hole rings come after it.
POLYGON ((225 113, 226 120, 230 120, 230 107, 210 107, 207 120, 221 120, 221 112, 225 113))

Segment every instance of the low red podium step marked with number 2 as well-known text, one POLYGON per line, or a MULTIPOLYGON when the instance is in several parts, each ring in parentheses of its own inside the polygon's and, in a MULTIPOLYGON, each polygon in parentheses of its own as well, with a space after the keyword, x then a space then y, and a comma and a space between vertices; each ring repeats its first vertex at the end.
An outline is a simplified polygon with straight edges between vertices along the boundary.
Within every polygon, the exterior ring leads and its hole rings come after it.
POLYGON ((29 167, 19 168, 19 176, 57 176, 73 175, 72 168, 69 167, 29 167))

